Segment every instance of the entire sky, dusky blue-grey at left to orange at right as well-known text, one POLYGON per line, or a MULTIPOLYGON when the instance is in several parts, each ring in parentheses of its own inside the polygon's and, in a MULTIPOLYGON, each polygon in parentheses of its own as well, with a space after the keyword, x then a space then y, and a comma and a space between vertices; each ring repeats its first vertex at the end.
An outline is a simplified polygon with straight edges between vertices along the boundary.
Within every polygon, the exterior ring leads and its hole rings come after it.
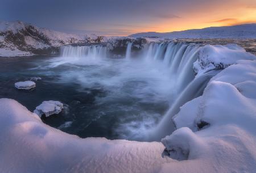
POLYGON ((127 36, 256 23, 256 0, 0 0, 0 20, 127 36))

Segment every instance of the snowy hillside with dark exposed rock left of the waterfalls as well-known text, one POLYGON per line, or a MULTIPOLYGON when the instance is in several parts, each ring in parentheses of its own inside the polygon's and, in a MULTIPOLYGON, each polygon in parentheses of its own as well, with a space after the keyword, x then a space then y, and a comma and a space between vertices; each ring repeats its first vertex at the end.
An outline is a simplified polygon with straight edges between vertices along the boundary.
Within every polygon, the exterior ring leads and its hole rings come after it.
POLYGON ((39 28, 23 22, 0 22, 0 56, 50 54, 57 47, 72 43, 91 43, 98 36, 75 35, 39 28))

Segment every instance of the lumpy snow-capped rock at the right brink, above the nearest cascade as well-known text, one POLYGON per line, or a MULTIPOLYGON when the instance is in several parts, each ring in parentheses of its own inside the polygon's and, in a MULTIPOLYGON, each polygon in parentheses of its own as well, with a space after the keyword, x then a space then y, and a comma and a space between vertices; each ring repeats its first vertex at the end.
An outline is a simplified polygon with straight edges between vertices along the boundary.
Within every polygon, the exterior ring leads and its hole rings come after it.
POLYGON ((225 69, 238 60, 256 60, 253 54, 236 44, 204 45, 200 48, 199 58, 193 64, 195 74, 206 73, 214 69, 225 69))

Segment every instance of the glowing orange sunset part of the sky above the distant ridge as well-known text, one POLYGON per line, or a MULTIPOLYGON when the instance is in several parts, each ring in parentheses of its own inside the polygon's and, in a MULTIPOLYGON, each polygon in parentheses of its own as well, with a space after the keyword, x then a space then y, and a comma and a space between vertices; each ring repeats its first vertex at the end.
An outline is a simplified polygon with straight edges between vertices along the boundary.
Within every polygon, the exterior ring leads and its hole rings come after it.
POLYGON ((222 4, 218 7, 206 7, 204 10, 192 9, 191 11, 181 12, 179 18, 162 19, 158 22, 144 24, 144 27, 126 29, 129 33, 171 32, 245 23, 256 23, 256 6, 250 6, 248 3, 241 1, 233 6, 222 4))

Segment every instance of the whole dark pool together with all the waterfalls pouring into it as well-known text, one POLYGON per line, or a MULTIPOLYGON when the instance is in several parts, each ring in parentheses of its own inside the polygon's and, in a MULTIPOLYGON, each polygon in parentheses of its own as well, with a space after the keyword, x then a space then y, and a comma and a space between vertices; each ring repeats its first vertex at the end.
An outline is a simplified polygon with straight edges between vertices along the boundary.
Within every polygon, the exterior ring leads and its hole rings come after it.
POLYGON ((60 57, 2 58, 0 98, 33 111, 44 100, 65 104, 44 123, 80 137, 159 140, 174 130, 171 117, 199 96, 211 75, 194 79, 199 45, 148 44, 137 57, 111 58, 106 47, 65 46, 60 57), (129 61, 127 61, 129 60, 129 61), (32 91, 14 83, 41 77, 32 91))

